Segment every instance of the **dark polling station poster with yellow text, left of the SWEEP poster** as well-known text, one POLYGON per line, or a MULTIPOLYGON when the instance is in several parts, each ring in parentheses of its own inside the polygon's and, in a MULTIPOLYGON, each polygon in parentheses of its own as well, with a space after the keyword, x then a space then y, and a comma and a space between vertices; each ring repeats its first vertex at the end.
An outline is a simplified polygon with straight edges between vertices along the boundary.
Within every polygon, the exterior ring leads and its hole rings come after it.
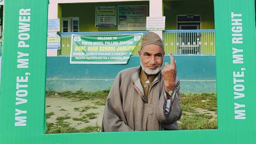
POLYGON ((117 6, 96 6, 95 27, 116 27, 117 6))

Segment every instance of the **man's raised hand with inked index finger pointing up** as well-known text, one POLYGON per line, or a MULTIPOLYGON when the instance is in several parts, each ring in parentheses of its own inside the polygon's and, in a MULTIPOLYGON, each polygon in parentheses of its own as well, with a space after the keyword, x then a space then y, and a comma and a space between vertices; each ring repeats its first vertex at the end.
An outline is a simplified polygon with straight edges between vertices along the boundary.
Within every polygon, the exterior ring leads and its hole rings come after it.
POLYGON ((177 74, 176 69, 176 60, 172 53, 170 53, 171 64, 165 63, 164 68, 162 69, 162 77, 164 79, 165 91, 173 91, 175 88, 175 79, 177 74))

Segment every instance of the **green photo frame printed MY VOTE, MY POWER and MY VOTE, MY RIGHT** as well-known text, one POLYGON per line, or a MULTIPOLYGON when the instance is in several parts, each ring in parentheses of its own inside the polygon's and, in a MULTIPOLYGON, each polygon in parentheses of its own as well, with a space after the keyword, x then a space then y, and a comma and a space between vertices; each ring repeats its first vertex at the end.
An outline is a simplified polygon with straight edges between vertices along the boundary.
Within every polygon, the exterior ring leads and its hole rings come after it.
POLYGON ((6 0, 1 144, 255 144, 255 1, 214 0, 218 129, 44 134, 48 0, 6 0))

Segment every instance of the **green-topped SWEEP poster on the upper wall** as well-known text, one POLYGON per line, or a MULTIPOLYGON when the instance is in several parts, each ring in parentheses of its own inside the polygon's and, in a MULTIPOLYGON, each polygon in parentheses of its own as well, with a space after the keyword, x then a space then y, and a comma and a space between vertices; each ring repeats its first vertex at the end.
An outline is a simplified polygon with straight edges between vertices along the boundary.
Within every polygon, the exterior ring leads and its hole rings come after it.
POLYGON ((147 5, 118 6, 118 30, 146 30, 147 5))

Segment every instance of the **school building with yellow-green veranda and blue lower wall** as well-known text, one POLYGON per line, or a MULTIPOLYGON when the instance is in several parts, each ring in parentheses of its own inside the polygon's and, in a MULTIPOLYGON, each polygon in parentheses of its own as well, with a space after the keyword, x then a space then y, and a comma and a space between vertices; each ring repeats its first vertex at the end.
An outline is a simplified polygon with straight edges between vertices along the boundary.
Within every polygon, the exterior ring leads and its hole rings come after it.
MULTIPOLYGON (((48 18, 60 19, 61 48, 47 49, 47 89, 97 91, 111 87, 119 70, 139 65, 139 44, 127 64, 70 64, 71 34, 108 35, 146 33, 143 28, 121 28, 121 7, 144 16, 165 16, 162 37, 166 54, 177 60, 181 92, 216 92, 213 0, 49 0, 48 18), (97 27, 97 7, 117 8, 116 27, 97 27), (137 9, 137 10, 136 10, 137 9)), ((145 17, 144 17, 144 21, 145 17)), ((170 62, 168 56, 166 62, 170 62)))

